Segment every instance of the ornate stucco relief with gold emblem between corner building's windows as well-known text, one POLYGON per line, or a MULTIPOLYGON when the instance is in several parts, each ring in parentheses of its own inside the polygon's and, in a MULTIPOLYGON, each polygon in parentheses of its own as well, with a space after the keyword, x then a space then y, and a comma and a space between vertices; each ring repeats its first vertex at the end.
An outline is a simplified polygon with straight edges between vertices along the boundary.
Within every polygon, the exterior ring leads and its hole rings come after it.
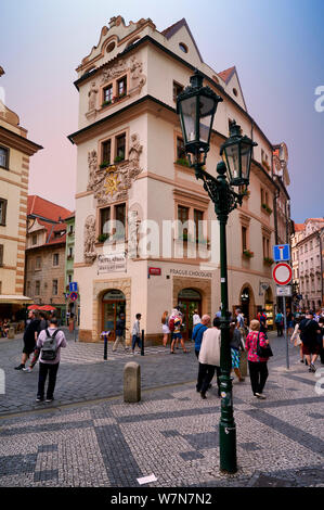
POLYGON ((107 168, 98 166, 96 151, 88 153, 89 180, 88 191, 93 191, 93 196, 99 206, 108 205, 120 200, 128 199, 128 190, 133 180, 142 171, 140 168, 140 154, 143 145, 137 133, 131 135, 129 160, 107 168))

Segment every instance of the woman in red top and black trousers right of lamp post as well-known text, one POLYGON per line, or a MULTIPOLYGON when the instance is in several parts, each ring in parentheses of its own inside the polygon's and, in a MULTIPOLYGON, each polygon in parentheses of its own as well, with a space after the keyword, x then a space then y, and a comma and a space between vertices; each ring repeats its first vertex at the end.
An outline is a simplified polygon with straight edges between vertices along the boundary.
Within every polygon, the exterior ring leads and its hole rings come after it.
POLYGON ((269 375, 267 362, 269 358, 262 358, 258 356, 258 341, 261 347, 269 345, 269 340, 265 339, 265 335, 260 331, 260 322, 256 319, 250 321, 250 332, 246 337, 245 348, 248 352, 248 369, 250 383, 252 388, 252 394, 257 398, 267 398, 263 395, 263 388, 269 375))

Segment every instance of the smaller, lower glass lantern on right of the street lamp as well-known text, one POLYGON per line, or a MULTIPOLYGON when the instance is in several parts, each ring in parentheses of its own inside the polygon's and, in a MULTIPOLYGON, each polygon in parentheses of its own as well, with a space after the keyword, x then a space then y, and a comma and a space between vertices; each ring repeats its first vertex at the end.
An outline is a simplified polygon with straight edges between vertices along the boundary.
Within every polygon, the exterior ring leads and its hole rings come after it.
POLYGON ((241 135, 241 127, 232 123, 230 138, 221 146, 231 186, 248 186, 252 149, 256 142, 241 135))

